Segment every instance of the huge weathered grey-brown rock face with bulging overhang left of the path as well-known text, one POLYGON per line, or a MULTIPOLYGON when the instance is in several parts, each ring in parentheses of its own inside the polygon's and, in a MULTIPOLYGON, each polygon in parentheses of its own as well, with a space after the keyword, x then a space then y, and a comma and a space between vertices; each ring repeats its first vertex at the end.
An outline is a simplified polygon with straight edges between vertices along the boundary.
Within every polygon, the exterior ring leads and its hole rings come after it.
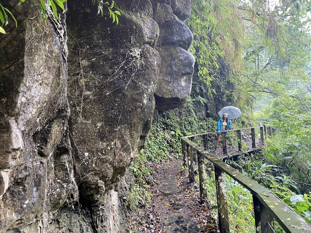
POLYGON ((118 25, 91 1, 46 24, 10 3, 21 24, 0 37, 0 232, 125 232, 123 175, 154 111, 190 94, 190 0, 115 1, 118 25))

